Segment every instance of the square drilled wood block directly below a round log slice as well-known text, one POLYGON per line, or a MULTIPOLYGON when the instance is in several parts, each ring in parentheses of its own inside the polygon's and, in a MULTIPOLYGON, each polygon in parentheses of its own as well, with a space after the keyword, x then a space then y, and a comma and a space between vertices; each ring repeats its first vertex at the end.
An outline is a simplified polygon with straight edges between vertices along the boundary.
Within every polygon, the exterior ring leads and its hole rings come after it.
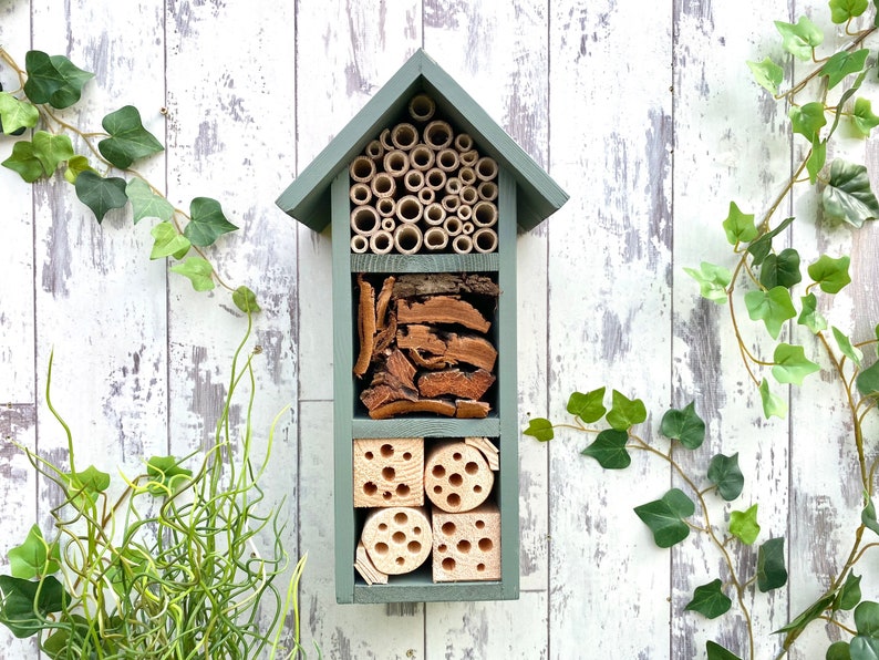
POLYGON ((490 502, 461 514, 433 509, 433 581, 500 579, 500 512, 490 502))

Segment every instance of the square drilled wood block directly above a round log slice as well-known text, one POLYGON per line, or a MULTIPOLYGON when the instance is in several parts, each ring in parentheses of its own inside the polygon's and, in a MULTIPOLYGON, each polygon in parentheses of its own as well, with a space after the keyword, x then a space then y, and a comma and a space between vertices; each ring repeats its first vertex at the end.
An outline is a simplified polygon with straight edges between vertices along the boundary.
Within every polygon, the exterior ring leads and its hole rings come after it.
POLYGON ((354 506, 422 506, 424 439, 354 440, 354 506))

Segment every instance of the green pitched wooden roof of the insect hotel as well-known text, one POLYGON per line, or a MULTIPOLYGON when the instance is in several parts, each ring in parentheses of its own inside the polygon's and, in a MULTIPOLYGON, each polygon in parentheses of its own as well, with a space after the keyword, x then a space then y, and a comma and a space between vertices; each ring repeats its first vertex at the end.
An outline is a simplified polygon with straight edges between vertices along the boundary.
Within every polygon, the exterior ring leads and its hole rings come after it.
POLYGON ((399 121, 410 99, 424 92, 438 112, 476 141, 479 151, 510 172, 518 186, 517 217, 532 229, 558 210, 568 195, 439 65, 420 49, 363 106, 277 199, 303 225, 321 231, 330 223, 330 184, 379 133, 399 121))

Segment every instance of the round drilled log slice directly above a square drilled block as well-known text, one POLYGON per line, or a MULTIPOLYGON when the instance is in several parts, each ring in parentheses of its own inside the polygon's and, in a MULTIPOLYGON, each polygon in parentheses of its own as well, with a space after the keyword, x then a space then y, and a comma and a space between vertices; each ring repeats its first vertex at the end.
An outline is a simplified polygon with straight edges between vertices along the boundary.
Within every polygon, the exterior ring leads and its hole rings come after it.
POLYGON ((492 492, 495 474, 482 452, 464 442, 435 444, 424 462, 424 492, 437 508, 463 513, 492 492))

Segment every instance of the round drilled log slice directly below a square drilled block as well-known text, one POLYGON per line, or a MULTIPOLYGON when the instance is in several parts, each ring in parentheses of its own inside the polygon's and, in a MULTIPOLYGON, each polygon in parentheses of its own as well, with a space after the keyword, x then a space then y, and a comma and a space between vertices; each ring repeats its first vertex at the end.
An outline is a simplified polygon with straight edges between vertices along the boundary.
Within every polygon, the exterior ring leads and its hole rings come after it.
POLYGON ((376 508, 366 517, 360 538, 380 571, 410 573, 431 554, 431 518, 424 507, 376 508))

